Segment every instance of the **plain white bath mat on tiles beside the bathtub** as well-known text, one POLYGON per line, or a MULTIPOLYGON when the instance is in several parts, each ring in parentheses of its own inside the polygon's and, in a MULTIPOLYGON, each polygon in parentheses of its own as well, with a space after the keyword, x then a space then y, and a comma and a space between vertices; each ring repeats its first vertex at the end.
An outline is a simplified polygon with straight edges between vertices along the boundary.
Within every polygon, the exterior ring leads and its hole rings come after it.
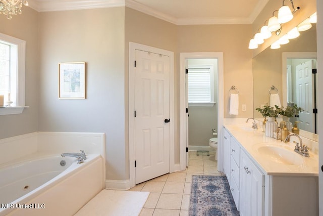
POLYGON ((75 216, 139 215, 149 192, 102 190, 75 216))

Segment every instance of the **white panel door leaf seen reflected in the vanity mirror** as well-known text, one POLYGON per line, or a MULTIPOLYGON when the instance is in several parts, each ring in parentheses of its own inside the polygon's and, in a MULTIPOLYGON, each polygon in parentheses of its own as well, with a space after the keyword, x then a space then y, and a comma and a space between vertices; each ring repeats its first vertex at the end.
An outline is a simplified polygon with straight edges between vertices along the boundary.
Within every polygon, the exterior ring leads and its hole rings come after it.
POLYGON ((314 133, 312 60, 296 66, 296 104, 304 109, 299 113, 299 128, 314 133))

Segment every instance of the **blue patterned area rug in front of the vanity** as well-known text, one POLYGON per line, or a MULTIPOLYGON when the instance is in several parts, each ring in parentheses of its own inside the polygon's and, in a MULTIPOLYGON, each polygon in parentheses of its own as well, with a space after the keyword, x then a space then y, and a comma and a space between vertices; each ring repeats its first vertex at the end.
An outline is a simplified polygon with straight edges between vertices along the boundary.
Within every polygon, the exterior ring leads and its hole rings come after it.
POLYGON ((193 176, 189 215, 239 215, 227 177, 193 176))

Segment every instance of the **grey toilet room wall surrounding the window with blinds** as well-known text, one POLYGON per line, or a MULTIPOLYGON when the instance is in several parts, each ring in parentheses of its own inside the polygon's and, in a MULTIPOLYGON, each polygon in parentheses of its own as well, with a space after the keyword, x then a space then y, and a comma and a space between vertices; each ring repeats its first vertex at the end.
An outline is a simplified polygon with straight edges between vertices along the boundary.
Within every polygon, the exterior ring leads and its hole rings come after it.
MULTIPOLYGON (((216 59, 189 59, 188 65, 213 65, 214 101, 218 101, 218 63, 216 59)), ((218 132, 218 103, 211 107, 189 106, 188 142, 190 146, 208 146, 213 137, 212 129, 218 132)))

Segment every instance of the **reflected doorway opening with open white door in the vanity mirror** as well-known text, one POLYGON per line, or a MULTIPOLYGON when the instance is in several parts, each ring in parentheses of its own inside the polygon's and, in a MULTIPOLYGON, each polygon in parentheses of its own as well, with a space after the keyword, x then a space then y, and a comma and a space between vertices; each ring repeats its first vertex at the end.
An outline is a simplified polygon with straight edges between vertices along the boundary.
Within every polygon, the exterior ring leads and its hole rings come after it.
POLYGON ((294 123, 299 121, 298 127, 304 131, 316 133, 315 109, 315 59, 288 59, 287 60, 287 98, 288 104, 297 104, 304 109, 298 117, 291 118, 294 123))

